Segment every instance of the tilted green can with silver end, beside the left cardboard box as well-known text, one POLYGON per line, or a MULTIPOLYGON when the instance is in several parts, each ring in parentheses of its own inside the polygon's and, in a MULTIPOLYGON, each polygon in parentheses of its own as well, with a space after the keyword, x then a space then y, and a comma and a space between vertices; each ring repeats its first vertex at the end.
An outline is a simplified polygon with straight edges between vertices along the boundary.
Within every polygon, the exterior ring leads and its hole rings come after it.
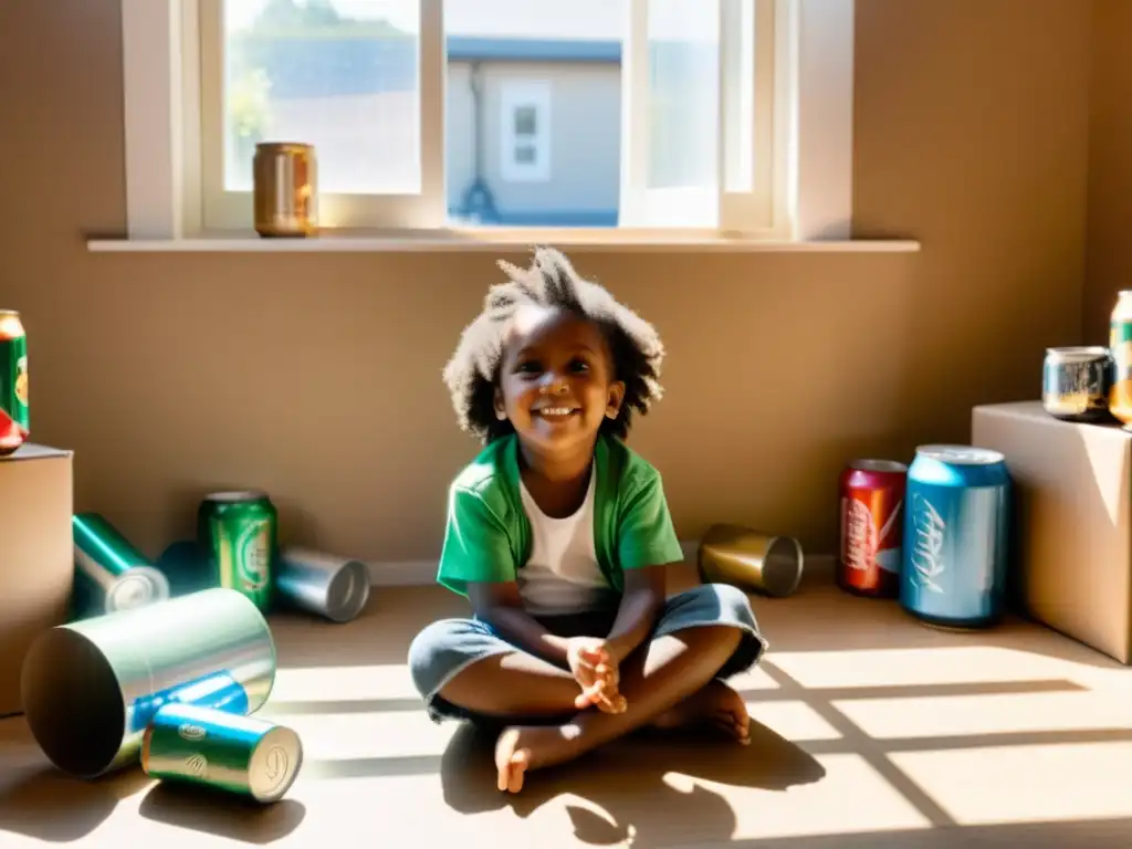
POLYGON ((169 581, 97 513, 71 516, 75 618, 130 610, 169 599, 169 581))

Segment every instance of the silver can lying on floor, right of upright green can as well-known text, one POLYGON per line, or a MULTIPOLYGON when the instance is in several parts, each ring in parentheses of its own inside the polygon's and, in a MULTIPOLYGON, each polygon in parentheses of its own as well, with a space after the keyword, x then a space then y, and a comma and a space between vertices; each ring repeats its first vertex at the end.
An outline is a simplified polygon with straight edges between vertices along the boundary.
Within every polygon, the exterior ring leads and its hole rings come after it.
POLYGON ((280 555, 275 589, 291 607, 350 621, 369 602, 369 568, 360 560, 290 547, 280 555))

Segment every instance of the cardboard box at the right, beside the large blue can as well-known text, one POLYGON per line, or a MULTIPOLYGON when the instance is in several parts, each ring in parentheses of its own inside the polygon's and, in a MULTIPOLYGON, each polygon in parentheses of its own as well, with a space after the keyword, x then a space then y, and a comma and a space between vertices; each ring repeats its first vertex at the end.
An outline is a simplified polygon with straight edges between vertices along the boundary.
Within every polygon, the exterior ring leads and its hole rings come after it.
POLYGON ((1132 663, 1132 432, 977 406, 971 443, 1006 457, 1017 592, 1035 619, 1132 663))

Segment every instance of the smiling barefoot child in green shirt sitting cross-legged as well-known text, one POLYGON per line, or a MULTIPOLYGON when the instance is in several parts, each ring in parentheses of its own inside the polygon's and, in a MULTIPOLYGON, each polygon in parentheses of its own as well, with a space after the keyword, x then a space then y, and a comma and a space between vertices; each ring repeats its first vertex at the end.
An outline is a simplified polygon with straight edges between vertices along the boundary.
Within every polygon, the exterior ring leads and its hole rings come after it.
POLYGON ((409 651, 436 721, 498 729, 498 788, 644 727, 710 723, 748 739, 724 680, 766 642, 745 593, 668 597, 683 560, 657 470, 626 444, 660 394, 654 329, 557 250, 501 263, 445 370, 483 447, 455 478, 438 582, 471 616, 409 651))

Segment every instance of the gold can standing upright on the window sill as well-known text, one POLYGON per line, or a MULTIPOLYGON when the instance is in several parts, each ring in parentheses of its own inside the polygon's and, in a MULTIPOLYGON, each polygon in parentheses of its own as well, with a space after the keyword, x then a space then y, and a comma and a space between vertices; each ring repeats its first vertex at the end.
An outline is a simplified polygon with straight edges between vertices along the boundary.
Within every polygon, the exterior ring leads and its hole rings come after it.
POLYGON ((263 237, 318 234, 318 161, 311 145, 263 142, 252 160, 256 232, 263 237))

